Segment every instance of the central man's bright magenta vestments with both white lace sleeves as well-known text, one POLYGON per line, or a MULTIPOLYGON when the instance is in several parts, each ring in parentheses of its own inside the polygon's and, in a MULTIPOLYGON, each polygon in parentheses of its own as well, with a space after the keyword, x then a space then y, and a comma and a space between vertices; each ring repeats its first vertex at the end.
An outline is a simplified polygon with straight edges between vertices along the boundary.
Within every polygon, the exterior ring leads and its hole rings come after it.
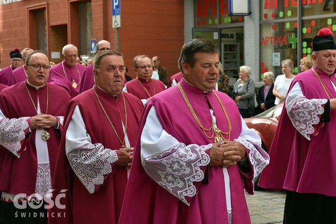
MULTIPOLYGON (((203 90, 184 79, 180 83, 200 122, 209 127, 212 117, 218 128, 228 131, 228 121, 214 92, 205 97, 203 90)), ((235 102, 214 91, 231 121, 230 141, 246 148, 252 171, 244 171, 242 163, 227 168, 210 166, 209 176, 204 178, 213 139, 204 135, 174 86, 151 97, 145 105, 119 223, 250 223, 244 187, 253 194, 254 177, 267 165, 268 156, 258 135, 242 120, 235 102)))

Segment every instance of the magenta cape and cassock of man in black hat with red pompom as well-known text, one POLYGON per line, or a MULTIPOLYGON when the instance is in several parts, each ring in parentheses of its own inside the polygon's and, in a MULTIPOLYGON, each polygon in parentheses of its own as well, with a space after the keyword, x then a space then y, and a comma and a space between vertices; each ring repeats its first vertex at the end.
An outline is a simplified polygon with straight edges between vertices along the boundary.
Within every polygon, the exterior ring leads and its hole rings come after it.
MULTIPOLYGON (((332 96, 336 97, 329 76, 316 68, 315 70, 332 96)), ((333 76, 334 74, 331 75, 332 78, 333 76)), ((299 82, 307 99, 327 98, 312 70, 298 74, 289 89, 296 82, 299 82)), ((293 127, 284 106, 269 151, 270 164, 262 171, 258 185, 267 189, 336 196, 333 168, 336 166, 333 161, 336 158, 335 120, 336 111, 330 110, 330 122, 324 123, 318 134, 310 136, 309 141, 293 127)))

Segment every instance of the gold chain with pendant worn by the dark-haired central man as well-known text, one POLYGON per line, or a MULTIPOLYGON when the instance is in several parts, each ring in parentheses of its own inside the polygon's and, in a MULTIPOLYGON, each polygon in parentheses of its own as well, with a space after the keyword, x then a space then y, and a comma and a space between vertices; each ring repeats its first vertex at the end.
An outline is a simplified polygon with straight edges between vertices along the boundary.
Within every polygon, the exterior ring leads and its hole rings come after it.
POLYGON ((198 117, 196 116, 195 111, 194 111, 192 105, 190 104, 190 102, 189 102, 189 100, 188 100, 188 97, 187 97, 187 95, 186 95, 185 91, 183 90, 183 88, 182 88, 182 86, 181 86, 180 83, 178 83, 178 88, 179 88, 179 90, 180 90, 180 92, 181 92, 181 94, 182 94, 182 96, 183 96, 183 98, 184 98, 184 100, 185 100, 185 102, 186 102, 186 104, 187 104, 189 110, 190 110, 190 113, 193 115, 193 117, 194 117, 196 123, 200 126, 200 128, 202 129, 202 131, 203 131, 203 133, 205 134, 205 136, 206 136, 208 139, 212 139, 212 138, 214 138, 214 141, 215 141, 215 142, 229 141, 229 140, 230 140, 230 135, 231 135, 231 130, 232 130, 231 122, 230 122, 229 116, 228 116, 228 114, 227 114, 227 112, 226 112, 226 109, 225 109, 225 107, 224 107, 224 105, 223 105, 221 99, 218 97, 218 95, 213 91, 214 95, 216 96, 218 102, 221 104, 221 107, 222 107, 222 109, 223 109, 223 111, 224 111, 225 117, 226 117, 226 119, 227 119, 227 121, 228 121, 228 127, 229 127, 229 130, 228 130, 228 132, 222 132, 219 128, 216 128, 216 130, 215 130, 216 136, 214 137, 214 126, 215 126, 214 120, 212 119, 211 127, 210 127, 209 129, 204 128, 203 125, 201 124, 200 120, 199 120, 198 117), (211 133, 212 133, 212 134, 211 134, 211 136, 208 136, 208 135, 206 134, 206 131, 210 131, 210 130, 211 130, 211 133), (224 135, 229 135, 229 138, 228 138, 228 139, 225 139, 224 136, 223 136, 223 134, 224 134, 224 135))

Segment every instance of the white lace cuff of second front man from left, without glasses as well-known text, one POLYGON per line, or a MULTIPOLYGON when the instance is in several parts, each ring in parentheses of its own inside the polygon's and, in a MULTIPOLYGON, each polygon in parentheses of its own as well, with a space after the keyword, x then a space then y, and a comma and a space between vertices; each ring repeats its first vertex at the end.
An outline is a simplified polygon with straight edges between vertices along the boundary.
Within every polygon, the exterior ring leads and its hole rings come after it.
POLYGON ((103 184, 103 175, 112 172, 111 163, 118 160, 115 151, 100 143, 86 142, 66 153, 72 170, 90 193, 95 185, 103 184))

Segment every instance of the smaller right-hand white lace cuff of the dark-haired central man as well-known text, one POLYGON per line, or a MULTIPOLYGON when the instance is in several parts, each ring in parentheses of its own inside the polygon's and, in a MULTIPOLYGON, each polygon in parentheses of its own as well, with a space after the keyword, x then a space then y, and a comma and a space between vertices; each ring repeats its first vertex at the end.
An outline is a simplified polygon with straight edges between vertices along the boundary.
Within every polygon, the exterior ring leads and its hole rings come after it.
MULTIPOLYGON (((248 153, 248 159, 254 171, 253 179, 256 178, 269 163, 269 155, 261 148, 261 144, 259 142, 251 143, 241 137, 235 139, 234 141, 239 142, 246 149, 250 150, 250 152, 248 153)), ((254 184, 254 181, 252 181, 252 184, 254 184)))

